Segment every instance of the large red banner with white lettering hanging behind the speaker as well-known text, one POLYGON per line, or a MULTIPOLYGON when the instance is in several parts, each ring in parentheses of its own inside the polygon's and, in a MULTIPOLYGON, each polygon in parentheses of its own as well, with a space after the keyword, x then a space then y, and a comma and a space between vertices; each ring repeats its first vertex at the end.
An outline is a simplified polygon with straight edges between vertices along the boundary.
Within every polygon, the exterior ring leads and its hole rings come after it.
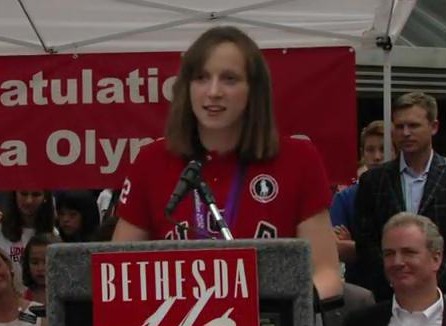
MULTIPOLYGON (((332 182, 356 173, 354 53, 267 50, 282 134, 306 134, 332 182)), ((163 135, 180 53, 0 57, 0 189, 121 186, 163 135)))

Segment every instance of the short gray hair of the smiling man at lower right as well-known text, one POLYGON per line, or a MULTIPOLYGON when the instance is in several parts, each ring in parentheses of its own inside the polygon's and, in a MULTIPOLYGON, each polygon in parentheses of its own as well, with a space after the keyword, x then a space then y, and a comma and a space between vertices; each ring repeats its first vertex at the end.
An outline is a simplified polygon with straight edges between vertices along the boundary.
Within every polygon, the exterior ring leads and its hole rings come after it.
POLYGON ((443 253, 444 240, 437 225, 429 218, 409 212, 401 212, 393 215, 383 228, 383 235, 390 229, 400 226, 417 226, 426 235, 426 247, 431 252, 443 253))

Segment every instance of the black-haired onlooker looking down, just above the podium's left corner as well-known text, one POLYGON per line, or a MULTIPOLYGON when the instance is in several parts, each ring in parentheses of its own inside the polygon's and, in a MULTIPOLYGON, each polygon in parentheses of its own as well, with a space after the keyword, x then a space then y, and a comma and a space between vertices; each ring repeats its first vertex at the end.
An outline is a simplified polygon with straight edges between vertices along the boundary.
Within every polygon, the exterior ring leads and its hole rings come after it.
POLYGON ((85 242, 99 226, 96 199, 88 190, 61 192, 56 200, 57 228, 65 242, 85 242))

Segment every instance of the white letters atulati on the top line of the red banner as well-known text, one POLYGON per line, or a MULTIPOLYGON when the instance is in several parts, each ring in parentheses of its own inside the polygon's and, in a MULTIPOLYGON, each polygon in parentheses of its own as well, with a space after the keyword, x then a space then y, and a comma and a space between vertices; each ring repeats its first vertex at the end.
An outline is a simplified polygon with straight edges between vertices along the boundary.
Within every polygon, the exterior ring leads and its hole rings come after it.
POLYGON ((170 102, 175 79, 176 76, 170 76, 161 81, 156 67, 147 68, 146 73, 135 69, 124 76, 104 78, 95 76, 92 69, 82 69, 73 78, 52 79, 38 71, 31 80, 4 80, 0 84, 0 105, 159 103, 160 95, 170 102))

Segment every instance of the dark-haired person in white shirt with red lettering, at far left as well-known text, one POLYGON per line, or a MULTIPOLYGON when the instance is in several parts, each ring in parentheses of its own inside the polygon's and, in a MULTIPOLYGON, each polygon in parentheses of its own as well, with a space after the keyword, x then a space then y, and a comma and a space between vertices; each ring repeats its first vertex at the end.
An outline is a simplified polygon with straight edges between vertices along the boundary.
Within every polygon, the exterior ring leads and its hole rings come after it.
POLYGON ((0 249, 5 251, 14 267, 14 285, 19 292, 22 283, 21 260, 29 239, 35 234, 53 232, 55 209, 51 192, 17 190, 9 192, 0 222, 0 249))

